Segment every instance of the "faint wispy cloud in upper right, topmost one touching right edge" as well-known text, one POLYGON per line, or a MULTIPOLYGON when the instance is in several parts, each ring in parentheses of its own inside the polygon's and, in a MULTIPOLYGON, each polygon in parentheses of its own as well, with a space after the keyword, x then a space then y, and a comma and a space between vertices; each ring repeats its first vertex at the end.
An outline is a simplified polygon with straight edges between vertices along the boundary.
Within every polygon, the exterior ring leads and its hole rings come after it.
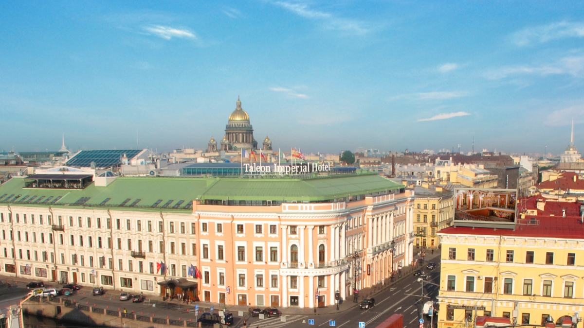
POLYGON ((584 37, 584 24, 579 22, 557 22, 548 25, 527 27, 512 34, 511 39, 517 46, 545 43, 568 37, 584 37))

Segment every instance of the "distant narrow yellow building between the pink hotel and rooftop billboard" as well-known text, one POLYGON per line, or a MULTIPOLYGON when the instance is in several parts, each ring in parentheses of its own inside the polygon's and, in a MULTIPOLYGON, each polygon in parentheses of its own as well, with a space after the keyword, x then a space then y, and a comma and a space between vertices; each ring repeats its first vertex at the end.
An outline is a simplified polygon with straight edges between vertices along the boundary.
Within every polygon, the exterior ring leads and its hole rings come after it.
POLYGON ((453 194, 440 186, 427 184, 425 187, 415 187, 414 191, 413 232, 416 246, 437 247, 440 243, 436 233, 452 224, 453 194))

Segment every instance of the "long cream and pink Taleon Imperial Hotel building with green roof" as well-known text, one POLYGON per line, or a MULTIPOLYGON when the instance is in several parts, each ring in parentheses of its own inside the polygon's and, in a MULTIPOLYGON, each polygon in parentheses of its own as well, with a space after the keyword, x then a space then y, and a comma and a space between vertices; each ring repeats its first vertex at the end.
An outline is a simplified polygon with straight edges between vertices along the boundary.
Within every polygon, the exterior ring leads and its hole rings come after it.
POLYGON ((77 171, 0 186, 2 274, 313 308, 412 261, 413 191, 377 174, 104 180, 77 171))

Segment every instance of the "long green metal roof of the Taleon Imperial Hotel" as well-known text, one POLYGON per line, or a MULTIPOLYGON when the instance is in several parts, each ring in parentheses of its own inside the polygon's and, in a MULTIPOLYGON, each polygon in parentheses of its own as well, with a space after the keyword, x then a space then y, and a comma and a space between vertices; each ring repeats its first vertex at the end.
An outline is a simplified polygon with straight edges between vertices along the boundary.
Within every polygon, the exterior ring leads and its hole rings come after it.
POLYGON ((379 175, 338 175, 314 179, 249 179, 225 177, 118 177, 106 187, 95 186, 95 182, 83 190, 24 188, 25 180, 19 177, 0 186, 0 203, 53 205, 53 206, 103 206, 134 210, 190 211, 185 206, 193 200, 273 200, 273 201, 326 201, 334 198, 378 193, 404 188, 404 185, 379 175), (7 198, 14 194, 15 196, 7 198), (18 199, 14 198, 18 195, 18 199), (29 197, 26 197, 29 196, 29 197), (30 198, 37 196, 33 201, 30 198), (35 203, 45 196, 39 203, 35 203), (53 199, 43 203, 48 197, 53 199), (24 201, 23 198, 25 198, 24 201), (56 197, 61 197, 52 203, 56 197), (89 197, 84 204, 80 198, 89 197), (102 204, 110 198, 105 204, 102 204), (134 201, 140 201, 130 207, 134 201), (157 206, 152 207, 157 201, 157 206), (172 200, 172 203, 168 203, 172 200), (179 201, 183 201, 178 207, 179 201), (76 204, 77 203, 77 204, 76 204), (101 204, 101 205, 100 205, 101 204))

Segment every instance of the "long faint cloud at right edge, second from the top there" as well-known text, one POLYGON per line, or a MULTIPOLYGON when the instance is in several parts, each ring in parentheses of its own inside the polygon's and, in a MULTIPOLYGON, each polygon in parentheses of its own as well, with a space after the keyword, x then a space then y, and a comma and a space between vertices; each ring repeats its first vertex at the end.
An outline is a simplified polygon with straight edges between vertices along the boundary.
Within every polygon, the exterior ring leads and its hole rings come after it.
POLYGON ((568 74, 576 77, 584 76, 584 56, 564 57, 556 62, 541 65, 516 65, 491 69, 485 73, 489 79, 503 79, 512 75, 552 75, 568 74))

